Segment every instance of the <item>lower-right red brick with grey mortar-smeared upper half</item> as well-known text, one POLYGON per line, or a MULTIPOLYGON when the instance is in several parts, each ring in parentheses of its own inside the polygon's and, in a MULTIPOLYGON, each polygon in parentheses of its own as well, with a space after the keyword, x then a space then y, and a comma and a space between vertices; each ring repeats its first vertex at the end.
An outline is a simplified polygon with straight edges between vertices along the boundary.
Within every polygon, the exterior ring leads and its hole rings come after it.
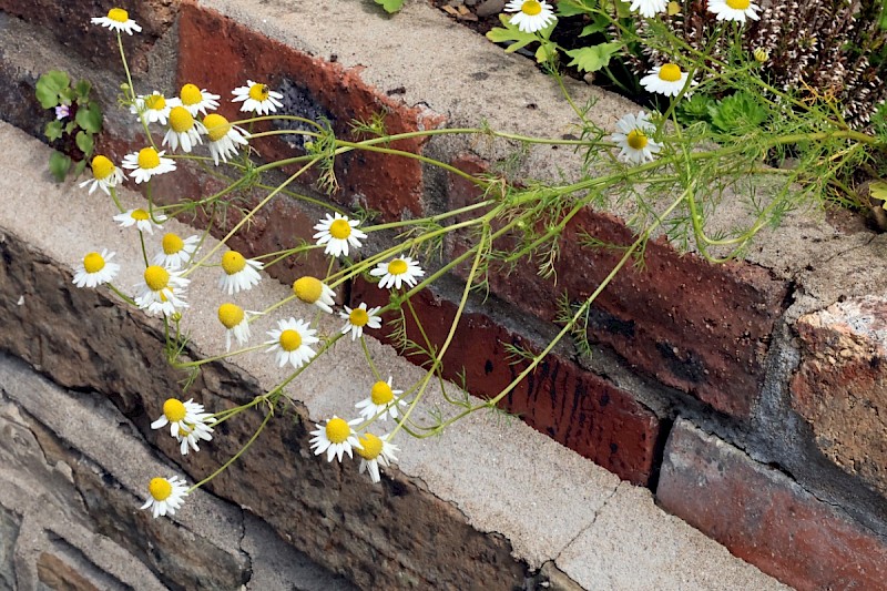
POLYGON ((656 497, 667 511, 799 591, 884 589, 887 546, 782 472, 679 420, 656 497))

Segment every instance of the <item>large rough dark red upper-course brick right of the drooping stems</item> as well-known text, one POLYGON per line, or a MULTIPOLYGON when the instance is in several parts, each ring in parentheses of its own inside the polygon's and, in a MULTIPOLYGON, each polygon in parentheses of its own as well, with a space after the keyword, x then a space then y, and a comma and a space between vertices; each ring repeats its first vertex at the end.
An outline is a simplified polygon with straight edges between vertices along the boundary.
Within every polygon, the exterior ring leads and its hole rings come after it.
MULTIPOLYGON (((471 159, 453 164, 477 173, 471 159)), ((473 203, 478 190, 451 175, 449 204, 473 203)), ((622 252, 580 245, 583 233, 611 244, 634 241, 624 223, 585 208, 568 223, 555 264, 557 284, 526 262, 511 274, 490 274, 500 297, 540 318, 557 317, 563 293, 572 302, 589 297, 622 252)), ((507 241, 499 245, 507 248, 507 241)), ((456 252, 460 243, 455 241, 456 252)), ((712 407, 748 416, 759 396, 764 359, 775 319, 783 312, 785 282, 744 263, 710 265, 681 255, 662 241, 648 244, 645 268, 623 268, 598 297, 589 337, 611 346, 632 366, 712 407)))

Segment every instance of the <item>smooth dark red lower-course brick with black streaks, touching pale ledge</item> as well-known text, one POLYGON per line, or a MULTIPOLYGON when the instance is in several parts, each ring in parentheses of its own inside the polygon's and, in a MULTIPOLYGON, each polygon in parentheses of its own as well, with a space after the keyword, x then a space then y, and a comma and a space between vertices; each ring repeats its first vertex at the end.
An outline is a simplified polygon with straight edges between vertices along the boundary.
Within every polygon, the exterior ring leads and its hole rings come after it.
MULTIPOLYGON (((364 281, 355 283, 351 305, 388 303, 388 291, 364 281)), ((440 346, 449 332, 457 306, 425 289, 412 298, 422 328, 440 346)), ((387 315, 386 322, 391 318, 387 315)), ((410 319, 407 334, 417 343, 421 336, 410 319)), ((374 335, 376 336, 376 335, 374 335)), ((509 363, 506 344, 532 348, 520 335, 482 313, 463 314, 459 330, 443 356, 443 376, 461 383, 475 396, 498 395, 526 364, 509 363)), ((417 365, 426 357, 407 357, 417 365)), ((531 427, 635 485, 648 485, 653 472, 659 419, 631 394, 588 373, 557 355, 549 355, 519 384, 501 405, 531 427)))

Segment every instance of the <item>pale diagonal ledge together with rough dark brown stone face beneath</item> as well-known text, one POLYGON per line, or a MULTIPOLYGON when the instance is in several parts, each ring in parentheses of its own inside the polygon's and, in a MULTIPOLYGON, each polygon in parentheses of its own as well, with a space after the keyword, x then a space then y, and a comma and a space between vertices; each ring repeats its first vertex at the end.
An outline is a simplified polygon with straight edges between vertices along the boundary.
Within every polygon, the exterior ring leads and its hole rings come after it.
MULTIPOLYGON (((0 124, 0 143, 14 146, 0 163, 0 349, 63 388, 40 386, 16 366, 20 377, 4 380, 6 404, 13 416, 28 417, 47 457, 40 469, 68 475, 71 502, 85 505, 64 519, 109 543, 133 544, 131 572, 149 569, 164 580, 172 563, 181 575, 193 574, 196 567, 184 557, 197 544, 226 561, 230 570, 218 577, 239 581, 243 547, 232 540, 238 530, 231 523, 252 513, 361 588, 510 589, 547 564, 546 572, 557 567, 585 589, 783 588, 663 512, 649 490, 621 482, 520 421, 473 415, 439 438, 401 438, 400 461, 384 471, 380 486, 358 476, 354 463, 314 457, 307 432, 313 421, 349 414, 371 381, 349 339, 287 388, 294 414, 272 420, 245 457, 210 485, 212 495, 197 491, 174 518, 152 520, 137 510, 150 478, 169 472, 201 479, 236 451, 261 412, 230 421, 226 432, 184 458, 167 435, 150 429, 181 377, 164 363, 161 323, 106 289, 71 284, 83 253, 101 248, 118 253, 115 283, 136 284, 142 263, 132 228, 112 221, 115 208, 103 193, 53 183, 44 172, 49 150, 40 142, 0 124), (31 388, 54 394, 30 397, 31 388)), ((145 204, 130 191, 121 196, 126 207, 145 204)), ((182 235, 196 232, 169 224, 182 235)), ((221 296, 210 275, 195 274, 183 317, 193 353, 204 356, 224 351, 215 318, 221 296)), ((288 293, 266 277, 249 292, 251 306, 262 309, 288 293)), ((287 315, 309 314, 287 306, 287 315)), ((254 335, 271 324, 258 320, 254 335)), ((381 373, 405 383, 420 375, 391 348, 373 340, 369 348, 381 373)), ((282 377, 271 356, 256 353, 205 367, 191 394, 216 410, 248 401, 282 377)), ((10 498, 4 493, 3 506, 19 514, 23 509, 10 498)))

